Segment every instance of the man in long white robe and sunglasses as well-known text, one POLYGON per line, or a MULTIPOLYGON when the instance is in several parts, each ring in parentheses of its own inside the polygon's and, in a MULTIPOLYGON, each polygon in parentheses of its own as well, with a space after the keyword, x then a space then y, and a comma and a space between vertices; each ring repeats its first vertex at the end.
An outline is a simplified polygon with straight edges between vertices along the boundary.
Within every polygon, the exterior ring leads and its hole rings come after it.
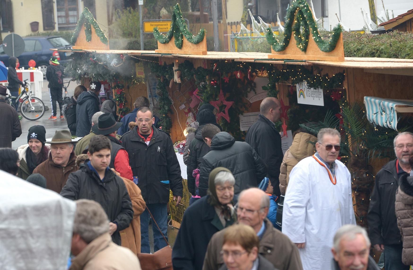
POLYGON ((350 172, 337 160, 339 132, 321 129, 316 150, 290 173, 282 232, 297 244, 304 270, 330 270, 335 232, 342 225, 356 224, 356 219, 350 172))

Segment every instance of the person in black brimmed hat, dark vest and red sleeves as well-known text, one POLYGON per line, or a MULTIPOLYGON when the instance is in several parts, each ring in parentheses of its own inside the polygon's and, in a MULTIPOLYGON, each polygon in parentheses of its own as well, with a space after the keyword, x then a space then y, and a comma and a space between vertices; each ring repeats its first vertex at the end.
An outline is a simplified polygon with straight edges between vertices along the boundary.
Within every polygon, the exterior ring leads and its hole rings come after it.
POLYGON ((119 172, 122 177, 133 180, 128 152, 122 147, 122 142, 116 139, 116 131, 121 125, 122 123, 116 122, 112 113, 104 113, 99 116, 99 121, 93 125, 92 131, 96 135, 107 136, 112 144, 109 167, 119 172))

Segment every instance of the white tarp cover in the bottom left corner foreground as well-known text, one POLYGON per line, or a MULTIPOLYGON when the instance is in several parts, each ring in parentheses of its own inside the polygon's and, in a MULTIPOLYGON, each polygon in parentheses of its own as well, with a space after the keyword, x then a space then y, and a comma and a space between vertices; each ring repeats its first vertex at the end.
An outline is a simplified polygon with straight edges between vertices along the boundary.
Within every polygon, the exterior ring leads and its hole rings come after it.
POLYGON ((0 269, 65 270, 75 202, 0 171, 0 269))

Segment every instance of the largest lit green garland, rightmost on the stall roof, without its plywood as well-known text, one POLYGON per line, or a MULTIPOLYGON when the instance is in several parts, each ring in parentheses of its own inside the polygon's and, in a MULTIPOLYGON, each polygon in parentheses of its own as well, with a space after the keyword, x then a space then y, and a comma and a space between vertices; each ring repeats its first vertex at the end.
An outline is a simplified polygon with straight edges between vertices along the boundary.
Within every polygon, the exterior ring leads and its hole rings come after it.
POLYGON ((287 9, 287 14, 285 15, 285 30, 284 33, 282 33, 282 36, 275 35, 271 27, 267 28, 267 30, 267 42, 275 52, 282 52, 287 48, 288 44, 290 44, 292 32, 294 32, 297 48, 302 52, 306 52, 310 31, 313 34, 313 40, 316 42, 318 48, 322 52, 331 52, 335 49, 337 41, 342 33, 341 25, 337 24, 337 26, 333 28, 331 38, 323 40, 306 0, 292 1, 290 7, 287 9))

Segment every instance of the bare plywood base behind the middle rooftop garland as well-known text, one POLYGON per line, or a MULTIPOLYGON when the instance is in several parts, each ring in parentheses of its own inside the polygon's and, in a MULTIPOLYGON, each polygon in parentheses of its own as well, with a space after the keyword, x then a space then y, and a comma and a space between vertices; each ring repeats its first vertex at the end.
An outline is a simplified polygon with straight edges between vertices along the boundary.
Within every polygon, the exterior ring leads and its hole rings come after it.
POLYGON ((198 44, 192 44, 185 38, 183 39, 182 49, 178 49, 175 46, 175 38, 172 37, 171 40, 166 44, 161 44, 158 41, 158 49, 155 50, 157 53, 161 54, 207 54, 207 38, 204 37, 198 44))

